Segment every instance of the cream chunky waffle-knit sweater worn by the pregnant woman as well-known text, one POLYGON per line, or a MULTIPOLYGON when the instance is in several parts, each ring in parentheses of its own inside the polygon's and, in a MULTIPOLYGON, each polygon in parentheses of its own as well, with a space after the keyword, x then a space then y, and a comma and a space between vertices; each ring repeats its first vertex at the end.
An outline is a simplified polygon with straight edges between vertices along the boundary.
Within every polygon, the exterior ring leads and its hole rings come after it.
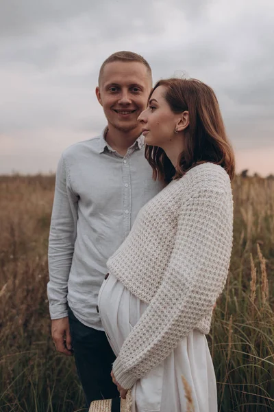
POLYGON ((131 388, 160 364, 190 330, 208 334, 227 279, 232 227, 229 176, 212 163, 190 169, 140 209, 107 262, 148 304, 113 365, 122 387, 131 388))

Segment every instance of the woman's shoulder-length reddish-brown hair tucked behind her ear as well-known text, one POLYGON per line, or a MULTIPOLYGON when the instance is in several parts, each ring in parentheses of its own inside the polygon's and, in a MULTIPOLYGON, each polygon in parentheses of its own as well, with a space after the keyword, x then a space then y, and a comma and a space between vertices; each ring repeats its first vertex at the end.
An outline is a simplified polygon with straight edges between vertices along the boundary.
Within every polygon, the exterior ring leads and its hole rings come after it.
MULTIPOLYGON (((184 151, 176 168, 164 150, 146 146, 145 157, 153 169, 153 179, 170 182, 205 162, 221 165, 233 179, 235 173, 234 151, 225 133, 219 103, 211 87, 196 79, 171 78, 160 80, 153 91, 164 86, 164 98, 173 113, 189 112, 189 125, 184 130, 184 151)), ((149 101, 148 100, 148 101, 149 101)))

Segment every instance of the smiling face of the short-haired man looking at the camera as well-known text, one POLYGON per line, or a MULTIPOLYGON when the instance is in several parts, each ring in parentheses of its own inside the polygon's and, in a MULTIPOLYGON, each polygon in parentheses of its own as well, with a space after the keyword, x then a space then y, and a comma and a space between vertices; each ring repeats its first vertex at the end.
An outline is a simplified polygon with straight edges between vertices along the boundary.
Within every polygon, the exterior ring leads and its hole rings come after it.
POLYGON ((108 124, 122 132, 140 128, 137 118, 147 106, 150 73, 140 62, 111 62, 105 65, 97 98, 108 124))

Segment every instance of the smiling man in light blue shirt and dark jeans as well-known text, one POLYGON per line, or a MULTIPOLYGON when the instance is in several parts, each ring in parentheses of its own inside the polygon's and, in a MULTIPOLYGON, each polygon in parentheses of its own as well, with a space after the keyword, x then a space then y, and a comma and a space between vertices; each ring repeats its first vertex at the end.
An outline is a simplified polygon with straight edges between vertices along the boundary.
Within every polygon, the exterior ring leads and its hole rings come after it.
POLYGON ((58 163, 49 235, 51 331, 59 352, 74 352, 87 404, 119 396, 110 376, 115 356, 97 308, 105 263, 140 208, 162 189, 152 179, 137 122, 151 87, 144 58, 112 54, 96 88, 108 126, 101 136, 66 149, 58 163))

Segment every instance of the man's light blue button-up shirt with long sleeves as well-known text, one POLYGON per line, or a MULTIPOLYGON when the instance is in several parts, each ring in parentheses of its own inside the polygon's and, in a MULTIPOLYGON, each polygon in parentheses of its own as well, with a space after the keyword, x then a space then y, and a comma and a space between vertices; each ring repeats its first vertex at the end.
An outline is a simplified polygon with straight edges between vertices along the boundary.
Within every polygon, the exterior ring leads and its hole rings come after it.
MULTIPOLYGON (((106 130, 106 129, 105 129, 106 130)), ((66 149, 58 163, 49 233, 49 311, 103 330, 97 313, 108 258, 129 234, 140 208, 162 190, 138 137, 125 157, 104 138, 66 149)))

